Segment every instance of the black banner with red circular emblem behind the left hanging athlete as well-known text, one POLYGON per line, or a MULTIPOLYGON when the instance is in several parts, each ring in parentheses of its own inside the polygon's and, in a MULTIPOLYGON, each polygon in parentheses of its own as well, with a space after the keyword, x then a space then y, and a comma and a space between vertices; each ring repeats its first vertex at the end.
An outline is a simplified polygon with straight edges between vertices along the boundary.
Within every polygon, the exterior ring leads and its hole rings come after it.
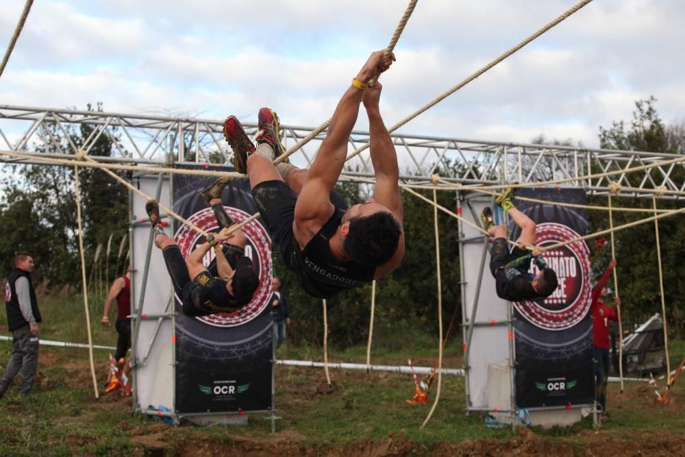
MULTIPOLYGON (((218 231, 218 224, 199 192, 214 179, 174 175, 172 182, 174 211, 207 232, 218 231)), ((222 199, 236 223, 257 212, 247 179, 231 182, 222 199)), ((245 255, 252 259, 260 275, 260 286, 252 301, 230 314, 188 317, 176 297, 175 408, 179 414, 271 408, 271 240, 258 220, 242 231, 248 240, 245 255)), ((174 239, 184 258, 205 242, 187 225, 177 225, 174 239)), ((204 263, 209 265, 213 258, 210 249, 204 263)))

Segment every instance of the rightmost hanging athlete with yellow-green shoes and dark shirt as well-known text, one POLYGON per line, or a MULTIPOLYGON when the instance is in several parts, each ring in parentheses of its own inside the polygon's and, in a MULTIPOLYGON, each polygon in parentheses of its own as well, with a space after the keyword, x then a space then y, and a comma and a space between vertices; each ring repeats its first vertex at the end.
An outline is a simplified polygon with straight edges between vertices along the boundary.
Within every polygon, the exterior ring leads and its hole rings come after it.
POLYGON ((495 199, 495 204, 508 212, 514 223, 521 227, 519 245, 511 252, 507 242, 507 228, 504 225, 494 225, 493 210, 486 207, 481 214, 483 228, 490 236, 495 237, 490 250, 490 271, 495 277, 497 296, 509 301, 543 300, 557 287, 556 273, 553 269, 547 268, 547 262, 540 255, 542 251, 535 245, 535 223, 514 207, 513 199, 513 188, 508 188, 495 199), (533 251, 525 249, 527 246, 533 246, 533 251), (540 270, 536 275, 528 271, 531 258, 535 259, 540 270))

